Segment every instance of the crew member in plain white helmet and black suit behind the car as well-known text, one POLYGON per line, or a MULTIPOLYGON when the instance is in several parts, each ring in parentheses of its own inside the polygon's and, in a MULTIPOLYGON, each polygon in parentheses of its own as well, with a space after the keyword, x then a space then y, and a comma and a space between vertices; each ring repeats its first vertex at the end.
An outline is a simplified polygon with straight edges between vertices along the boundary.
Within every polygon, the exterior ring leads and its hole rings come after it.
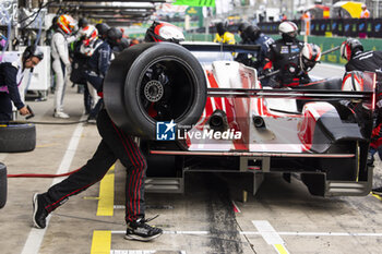
POLYGON ((301 83, 309 83, 307 74, 300 73, 301 66, 299 56, 305 45, 297 39, 298 27, 295 23, 286 21, 279 24, 278 32, 282 38, 271 45, 271 49, 265 57, 263 73, 266 75, 273 70, 279 70, 275 76, 275 87, 294 87, 301 83))

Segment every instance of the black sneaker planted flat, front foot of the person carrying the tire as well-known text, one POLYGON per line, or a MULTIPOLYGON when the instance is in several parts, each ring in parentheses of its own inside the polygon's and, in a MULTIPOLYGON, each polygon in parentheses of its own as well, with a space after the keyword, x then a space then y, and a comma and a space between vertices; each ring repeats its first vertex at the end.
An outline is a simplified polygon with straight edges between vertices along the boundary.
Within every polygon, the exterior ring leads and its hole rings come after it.
POLYGON ((163 234, 162 229, 154 228, 146 223, 150 220, 153 219, 139 219, 128 222, 124 239, 147 242, 163 234))

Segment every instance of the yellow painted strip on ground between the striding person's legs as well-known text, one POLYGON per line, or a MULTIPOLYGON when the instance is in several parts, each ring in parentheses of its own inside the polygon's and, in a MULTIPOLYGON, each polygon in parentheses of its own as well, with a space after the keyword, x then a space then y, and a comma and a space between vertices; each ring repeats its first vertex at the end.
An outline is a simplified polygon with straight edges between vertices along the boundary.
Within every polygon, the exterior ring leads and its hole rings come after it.
POLYGON ((115 166, 112 165, 99 184, 97 216, 112 216, 115 206, 115 166))

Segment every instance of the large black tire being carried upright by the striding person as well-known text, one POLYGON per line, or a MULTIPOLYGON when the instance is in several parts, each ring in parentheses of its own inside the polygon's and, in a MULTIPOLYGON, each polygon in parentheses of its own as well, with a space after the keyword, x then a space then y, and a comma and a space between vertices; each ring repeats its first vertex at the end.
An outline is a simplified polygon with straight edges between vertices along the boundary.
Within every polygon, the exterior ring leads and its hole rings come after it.
POLYGON ((155 138, 157 121, 186 126, 198 122, 206 101, 206 81, 199 61, 183 47, 135 45, 110 64, 104 98, 112 121, 123 131, 155 138))

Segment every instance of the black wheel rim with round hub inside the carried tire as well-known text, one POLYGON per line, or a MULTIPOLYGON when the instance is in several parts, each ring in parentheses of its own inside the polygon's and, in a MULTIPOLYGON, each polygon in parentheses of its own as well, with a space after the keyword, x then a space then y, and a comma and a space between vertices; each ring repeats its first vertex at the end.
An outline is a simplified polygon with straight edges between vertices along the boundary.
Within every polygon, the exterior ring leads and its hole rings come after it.
POLYGON ((179 122, 192 108, 196 81, 177 58, 157 59, 139 78, 139 106, 151 121, 179 122))

